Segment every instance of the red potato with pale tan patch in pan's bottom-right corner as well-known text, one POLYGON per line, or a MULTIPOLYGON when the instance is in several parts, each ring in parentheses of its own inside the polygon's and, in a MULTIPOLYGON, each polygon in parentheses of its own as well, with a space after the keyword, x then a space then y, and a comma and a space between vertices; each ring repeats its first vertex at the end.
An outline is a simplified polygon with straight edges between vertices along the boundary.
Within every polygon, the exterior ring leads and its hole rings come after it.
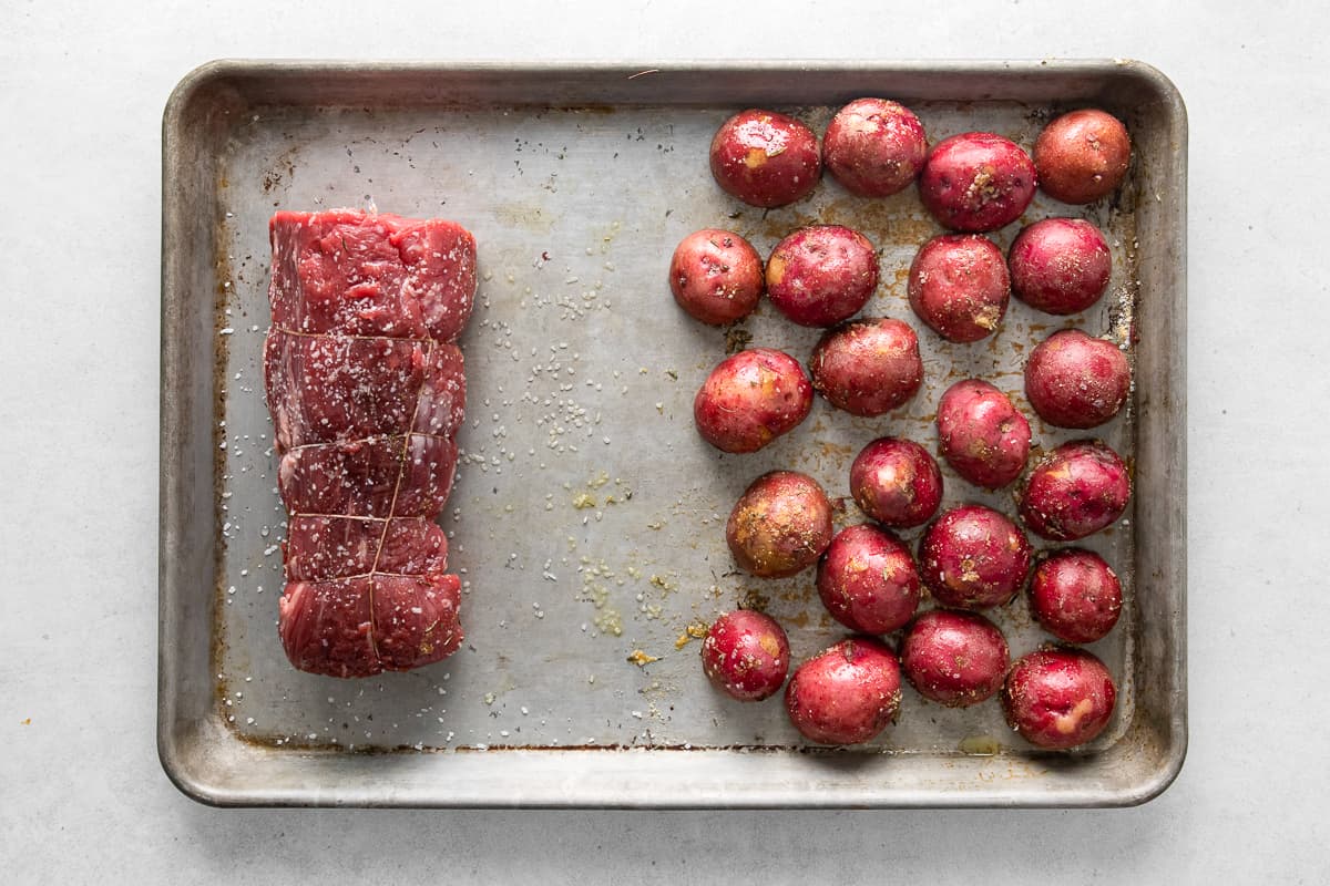
POLYGON ((1032 745, 1053 751, 1093 741, 1116 701, 1112 675, 1085 650, 1039 650, 1017 659, 1001 692, 1007 724, 1032 745))

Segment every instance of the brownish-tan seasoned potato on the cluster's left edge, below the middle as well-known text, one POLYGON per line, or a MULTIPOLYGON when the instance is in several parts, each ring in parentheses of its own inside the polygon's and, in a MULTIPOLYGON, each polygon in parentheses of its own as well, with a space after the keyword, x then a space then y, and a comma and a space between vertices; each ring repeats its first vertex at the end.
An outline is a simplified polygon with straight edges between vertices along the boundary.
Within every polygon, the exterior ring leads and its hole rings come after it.
POLYGON ((822 486, 807 474, 773 470, 734 503, 725 541, 745 573, 786 578, 817 563, 831 533, 831 502, 822 486))

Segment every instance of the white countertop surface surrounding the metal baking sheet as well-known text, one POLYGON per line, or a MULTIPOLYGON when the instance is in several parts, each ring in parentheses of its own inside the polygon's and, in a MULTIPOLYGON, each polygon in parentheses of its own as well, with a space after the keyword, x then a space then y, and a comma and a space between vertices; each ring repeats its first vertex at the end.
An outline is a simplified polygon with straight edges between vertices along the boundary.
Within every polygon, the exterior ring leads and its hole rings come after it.
POLYGON ((1330 295, 1315 270, 1330 8, 724 7, 739 25, 693 1, 5 5, 7 882, 1330 879, 1330 592, 1314 567, 1330 546, 1330 295), (1177 782, 1115 812, 223 812, 180 794, 154 741, 160 124, 174 84, 215 57, 1160 68, 1190 120, 1190 751, 1177 782))

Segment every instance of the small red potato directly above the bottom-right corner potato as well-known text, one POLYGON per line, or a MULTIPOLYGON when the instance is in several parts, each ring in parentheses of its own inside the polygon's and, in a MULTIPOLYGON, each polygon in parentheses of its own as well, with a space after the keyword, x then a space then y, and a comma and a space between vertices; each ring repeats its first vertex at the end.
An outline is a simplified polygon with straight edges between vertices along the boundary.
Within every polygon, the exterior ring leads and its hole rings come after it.
POLYGON ((1059 640, 1093 643, 1117 624, 1123 584, 1095 551, 1064 547, 1035 567, 1029 610, 1059 640))

